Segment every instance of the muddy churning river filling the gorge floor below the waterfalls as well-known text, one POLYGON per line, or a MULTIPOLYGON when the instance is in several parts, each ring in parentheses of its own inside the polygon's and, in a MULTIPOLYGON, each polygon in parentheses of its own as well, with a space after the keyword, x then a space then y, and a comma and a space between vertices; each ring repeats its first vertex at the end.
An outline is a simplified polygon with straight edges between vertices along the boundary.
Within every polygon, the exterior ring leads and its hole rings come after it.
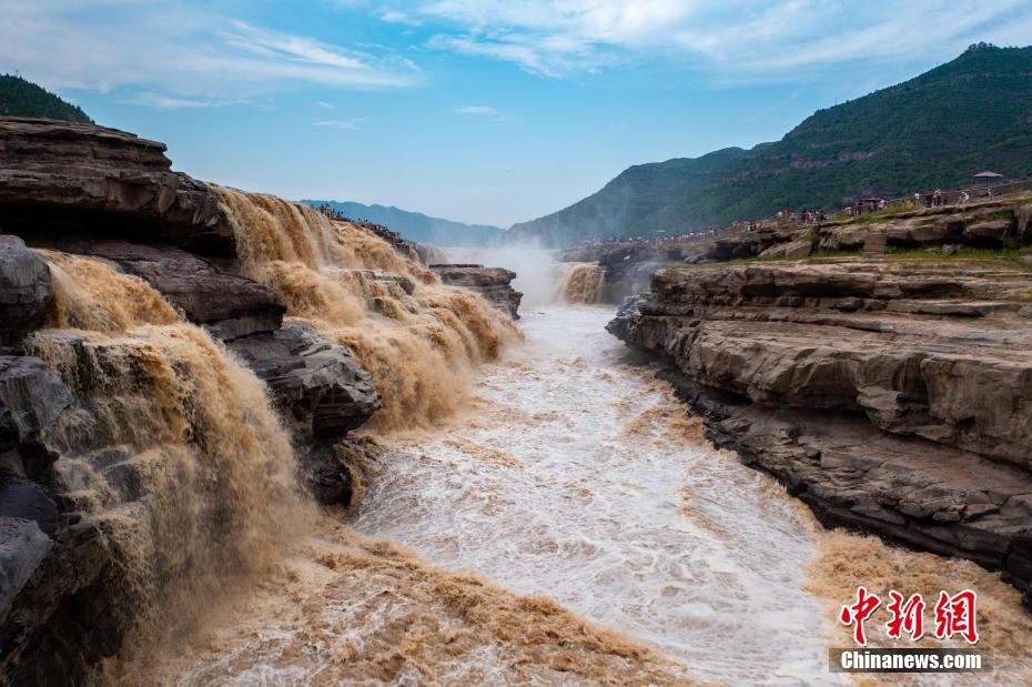
POLYGON ((849 684, 827 650, 849 645, 834 618, 857 585, 931 596, 963 584, 996 655, 985 684, 1028 684, 1032 624, 999 575, 822 531, 704 440, 604 331, 611 312, 524 309, 525 342, 482 366, 447 424, 376 435, 384 452, 358 469, 353 512, 320 513, 274 574, 213 604, 200 632, 130 651, 112 677, 849 684))

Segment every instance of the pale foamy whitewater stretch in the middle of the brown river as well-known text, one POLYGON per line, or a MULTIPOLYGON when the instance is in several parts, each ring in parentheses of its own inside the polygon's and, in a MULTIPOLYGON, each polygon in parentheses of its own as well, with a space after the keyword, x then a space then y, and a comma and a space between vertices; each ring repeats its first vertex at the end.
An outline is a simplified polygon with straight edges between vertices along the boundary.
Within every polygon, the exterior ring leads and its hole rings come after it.
POLYGON ((667 385, 626 361, 611 307, 535 307, 436 436, 394 440, 355 528, 547 594, 700 677, 827 680, 802 590, 813 526, 770 478, 711 448, 667 385))

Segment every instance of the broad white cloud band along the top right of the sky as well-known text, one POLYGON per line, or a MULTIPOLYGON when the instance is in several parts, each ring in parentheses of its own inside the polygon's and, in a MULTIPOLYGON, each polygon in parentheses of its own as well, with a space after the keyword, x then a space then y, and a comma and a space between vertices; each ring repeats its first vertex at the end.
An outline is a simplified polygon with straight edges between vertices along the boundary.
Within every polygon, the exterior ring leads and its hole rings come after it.
POLYGON ((970 42, 1032 36, 1029 0, 435 0, 419 12, 444 27, 433 48, 553 78, 656 59, 770 78, 853 60, 953 57, 970 42))

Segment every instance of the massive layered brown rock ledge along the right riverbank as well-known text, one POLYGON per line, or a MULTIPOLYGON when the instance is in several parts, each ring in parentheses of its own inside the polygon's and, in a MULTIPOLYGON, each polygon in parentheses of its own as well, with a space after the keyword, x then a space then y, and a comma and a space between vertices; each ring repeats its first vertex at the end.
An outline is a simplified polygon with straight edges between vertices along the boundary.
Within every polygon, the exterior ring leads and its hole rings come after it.
POLYGON ((1032 597, 1032 272, 672 267, 608 330, 826 524, 971 558, 1032 597))

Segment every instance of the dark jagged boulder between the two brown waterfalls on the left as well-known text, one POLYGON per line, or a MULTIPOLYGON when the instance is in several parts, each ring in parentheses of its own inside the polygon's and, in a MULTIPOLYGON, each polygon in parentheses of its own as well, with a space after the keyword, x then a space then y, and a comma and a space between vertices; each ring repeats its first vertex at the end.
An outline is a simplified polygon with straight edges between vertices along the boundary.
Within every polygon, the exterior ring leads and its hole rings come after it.
POLYGON ((229 344, 267 385, 300 444, 335 441, 382 407, 373 377, 347 346, 301 325, 229 344))

